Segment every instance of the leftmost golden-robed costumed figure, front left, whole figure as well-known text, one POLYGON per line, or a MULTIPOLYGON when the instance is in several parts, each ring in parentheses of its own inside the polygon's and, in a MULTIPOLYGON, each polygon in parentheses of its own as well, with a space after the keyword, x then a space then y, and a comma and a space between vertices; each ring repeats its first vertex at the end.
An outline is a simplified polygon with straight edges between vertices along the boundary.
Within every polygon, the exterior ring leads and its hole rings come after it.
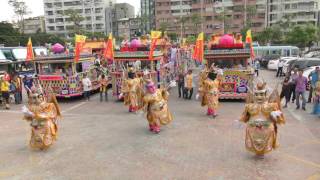
POLYGON ((57 140, 60 108, 54 95, 47 102, 43 94, 30 94, 28 106, 23 107, 24 119, 31 125, 30 147, 46 150, 57 140))

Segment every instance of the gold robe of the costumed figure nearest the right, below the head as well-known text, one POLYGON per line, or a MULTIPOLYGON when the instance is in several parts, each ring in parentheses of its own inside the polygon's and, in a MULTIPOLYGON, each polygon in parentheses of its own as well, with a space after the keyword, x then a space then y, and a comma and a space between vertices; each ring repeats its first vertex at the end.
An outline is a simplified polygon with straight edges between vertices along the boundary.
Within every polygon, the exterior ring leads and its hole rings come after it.
POLYGON ((278 103, 249 103, 240 121, 247 123, 245 145, 257 155, 266 154, 277 147, 277 124, 284 124, 281 114, 273 119, 272 112, 280 111, 278 103))

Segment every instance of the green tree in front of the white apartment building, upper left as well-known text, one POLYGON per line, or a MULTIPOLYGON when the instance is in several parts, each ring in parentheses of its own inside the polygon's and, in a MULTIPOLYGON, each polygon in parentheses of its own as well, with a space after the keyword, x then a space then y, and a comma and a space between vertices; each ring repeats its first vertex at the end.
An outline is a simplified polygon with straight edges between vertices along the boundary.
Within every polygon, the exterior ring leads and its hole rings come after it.
POLYGON ((77 10, 68 9, 64 12, 64 15, 69 16, 69 18, 67 18, 67 21, 73 23, 72 27, 70 28, 72 34, 84 33, 84 30, 81 26, 81 22, 84 20, 84 17, 77 10))

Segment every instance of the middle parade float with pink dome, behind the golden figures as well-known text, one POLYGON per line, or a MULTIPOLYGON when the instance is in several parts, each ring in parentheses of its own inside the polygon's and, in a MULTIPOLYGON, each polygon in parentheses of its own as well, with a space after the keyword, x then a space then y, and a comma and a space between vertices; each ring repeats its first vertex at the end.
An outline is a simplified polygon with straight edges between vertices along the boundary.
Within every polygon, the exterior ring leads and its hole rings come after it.
POLYGON ((128 66, 135 68, 138 77, 149 76, 153 82, 160 86, 162 81, 163 54, 160 51, 154 51, 152 58, 149 58, 150 51, 148 47, 142 45, 138 39, 130 42, 130 47, 121 48, 122 51, 116 51, 114 54, 114 67, 111 72, 113 95, 121 100, 121 85, 126 78, 128 66), (125 49, 125 50, 123 50, 125 49))

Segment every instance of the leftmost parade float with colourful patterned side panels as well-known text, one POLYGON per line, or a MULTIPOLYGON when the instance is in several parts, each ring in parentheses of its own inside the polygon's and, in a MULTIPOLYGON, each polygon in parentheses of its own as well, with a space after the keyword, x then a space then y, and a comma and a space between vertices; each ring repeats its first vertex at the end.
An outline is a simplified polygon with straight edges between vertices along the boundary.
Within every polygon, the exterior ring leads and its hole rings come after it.
POLYGON ((34 61, 37 83, 45 91, 52 89, 59 98, 70 98, 83 95, 82 78, 87 74, 92 82, 92 91, 100 85, 98 77, 107 71, 94 64, 94 57, 81 55, 74 61, 73 55, 56 54, 49 57, 38 57, 34 61))

